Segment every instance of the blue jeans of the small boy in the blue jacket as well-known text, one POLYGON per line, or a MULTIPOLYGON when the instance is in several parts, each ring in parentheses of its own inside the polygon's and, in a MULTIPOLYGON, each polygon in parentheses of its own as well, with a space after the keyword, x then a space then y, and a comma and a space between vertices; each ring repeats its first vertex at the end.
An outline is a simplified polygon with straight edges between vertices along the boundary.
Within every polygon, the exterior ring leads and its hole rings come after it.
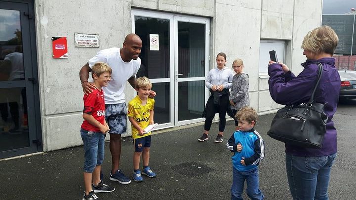
POLYGON ((238 171, 234 167, 231 186, 231 200, 242 200, 242 192, 246 180, 246 193, 251 200, 263 200, 264 195, 259 188, 258 168, 251 171, 238 171))

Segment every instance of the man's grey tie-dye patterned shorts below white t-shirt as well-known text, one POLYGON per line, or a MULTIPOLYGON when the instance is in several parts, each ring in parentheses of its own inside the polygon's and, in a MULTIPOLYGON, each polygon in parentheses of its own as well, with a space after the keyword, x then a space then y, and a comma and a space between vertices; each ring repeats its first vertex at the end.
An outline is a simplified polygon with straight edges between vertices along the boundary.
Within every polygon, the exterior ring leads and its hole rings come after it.
POLYGON ((127 126, 127 108, 126 103, 106 104, 105 119, 109 125, 110 134, 124 134, 127 126))

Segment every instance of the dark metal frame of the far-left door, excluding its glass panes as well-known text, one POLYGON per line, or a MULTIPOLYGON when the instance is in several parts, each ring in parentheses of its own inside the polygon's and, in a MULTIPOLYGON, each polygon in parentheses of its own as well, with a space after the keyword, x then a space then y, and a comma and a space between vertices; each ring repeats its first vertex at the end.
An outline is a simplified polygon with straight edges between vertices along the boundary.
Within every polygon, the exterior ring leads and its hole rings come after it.
POLYGON ((29 146, 0 152, 0 158, 8 158, 42 151, 40 93, 38 88, 34 2, 32 0, 0 0, 0 9, 20 11, 25 71, 25 80, 11 83, 0 82, 0 87, 25 87, 28 110, 29 146))

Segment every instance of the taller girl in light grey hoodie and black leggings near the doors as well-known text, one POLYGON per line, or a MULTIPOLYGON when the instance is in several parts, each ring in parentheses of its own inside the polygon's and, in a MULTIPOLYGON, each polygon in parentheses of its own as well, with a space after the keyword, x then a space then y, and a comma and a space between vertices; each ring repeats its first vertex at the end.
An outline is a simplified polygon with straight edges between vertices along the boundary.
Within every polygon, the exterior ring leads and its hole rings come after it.
POLYGON ((229 108, 229 89, 232 87, 233 73, 226 67, 226 54, 219 53, 216 57, 217 67, 211 69, 205 79, 205 86, 210 89, 211 95, 205 105, 203 117, 205 118, 204 133, 198 139, 203 142, 209 139, 209 130, 215 116, 219 113, 219 133, 214 142, 223 142, 223 131, 226 126, 226 112, 229 108))

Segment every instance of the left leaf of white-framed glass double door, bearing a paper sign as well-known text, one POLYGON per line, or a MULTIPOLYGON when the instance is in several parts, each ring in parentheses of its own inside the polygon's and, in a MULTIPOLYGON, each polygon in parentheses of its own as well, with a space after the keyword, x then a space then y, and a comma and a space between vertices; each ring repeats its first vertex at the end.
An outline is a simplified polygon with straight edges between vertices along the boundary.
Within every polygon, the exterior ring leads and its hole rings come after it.
POLYGON ((137 77, 146 76, 152 82, 155 98, 155 123, 158 128, 174 126, 173 16, 132 10, 133 33, 142 40, 141 67, 137 77), (157 42, 155 46, 152 39, 157 42))

